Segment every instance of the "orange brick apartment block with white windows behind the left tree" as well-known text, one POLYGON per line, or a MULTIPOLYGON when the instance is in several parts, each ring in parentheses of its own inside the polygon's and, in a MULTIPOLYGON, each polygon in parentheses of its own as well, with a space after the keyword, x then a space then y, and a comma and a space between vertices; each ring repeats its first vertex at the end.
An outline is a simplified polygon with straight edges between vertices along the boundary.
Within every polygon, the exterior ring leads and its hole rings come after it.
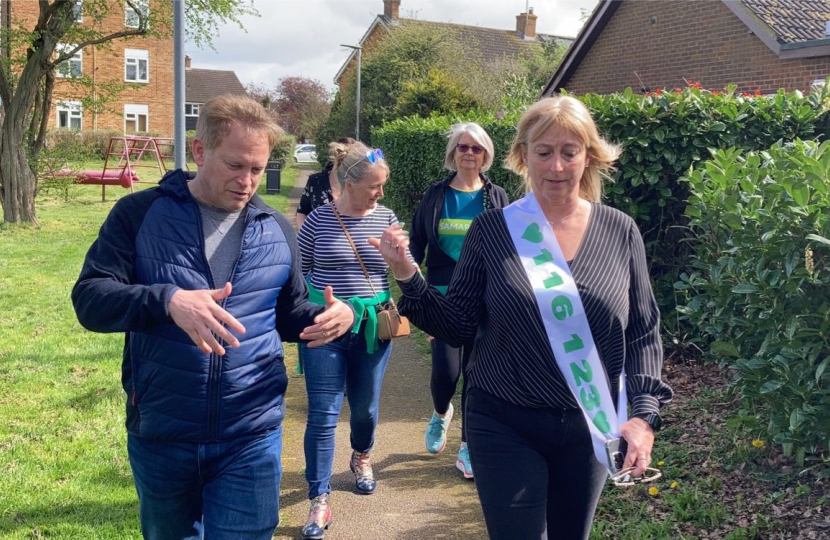
MULTIPOLYGON (((148 9, 158 0, 145 0, 148 9)), ((12 27, 34 28, 38 3, 31 0, 4 2, 10 13, 3 23, 12 27)), ((95 24, 96 30, 110 34, 136 28, 138 18, 123 1, 113 1, 101 21, 84 18, 83 0, 76 3, 76 24, 95 24)), ((59 44, 58 50, 72 44, 59 44)), ((124 133, 173 133, 173 38, 131 37, 103 45, 90 45, 70 61, 59 66, 54 89, 49 127, 68 129, 107 129, 124 133), (73 84, 72 78, 85 75, 91 86, 73 84), (81 100, 96 97, 101 85, 120 82, 127 87, 100 111, 84 110, 81 100), (92 96, 89 94, 92 93, 92 96)))

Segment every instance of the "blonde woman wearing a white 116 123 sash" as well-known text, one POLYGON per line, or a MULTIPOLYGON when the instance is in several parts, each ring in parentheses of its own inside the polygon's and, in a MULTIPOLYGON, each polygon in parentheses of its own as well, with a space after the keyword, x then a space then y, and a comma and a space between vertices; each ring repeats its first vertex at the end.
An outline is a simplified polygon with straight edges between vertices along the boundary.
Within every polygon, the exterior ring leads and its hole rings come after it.
POLYGON ((587 539, 619 469, 606 443, 627 442, 622 467, 643 475, 672 397, 642 237, 600 203, 618 153, 574 98, 528 109, 507 158, 528 194, 475 219, 446 296, 408 260, 399 226, 370 240, 402 313, 450 345, 475 339, 464 413, 496 540, 587 539))

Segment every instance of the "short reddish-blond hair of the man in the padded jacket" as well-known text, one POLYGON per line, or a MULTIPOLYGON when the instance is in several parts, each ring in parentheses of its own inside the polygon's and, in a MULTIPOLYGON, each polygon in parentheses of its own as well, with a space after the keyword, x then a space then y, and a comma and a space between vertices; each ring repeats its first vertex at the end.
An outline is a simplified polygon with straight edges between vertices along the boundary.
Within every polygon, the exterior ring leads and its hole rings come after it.
POLYGON ((255 100, 247 96, 223 94, 209 99, 200 107, 196 138, 202 141, 206 150, 213 150, 222 144, 234 124, 245 128, 248 133, 265 135, 271 148, 285 134, 268 111, 255 100))

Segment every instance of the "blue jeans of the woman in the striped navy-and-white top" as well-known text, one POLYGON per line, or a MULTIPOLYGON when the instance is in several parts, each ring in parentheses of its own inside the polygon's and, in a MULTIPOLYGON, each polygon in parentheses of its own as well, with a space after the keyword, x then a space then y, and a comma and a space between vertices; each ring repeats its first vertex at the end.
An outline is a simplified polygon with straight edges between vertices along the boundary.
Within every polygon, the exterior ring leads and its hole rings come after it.
POLYGON ((353 450, 368 452, 375 444, 378 425, 380 385, 391 341, 379 341, 378 349, 366 352, 363 332, 346 334, 322 347, 302 345, 303 369, 308 392, 308 423, 305 430, 305 477, 308 498, 331 492, 334 463, 334 430, 343 407, 343 385, 348 393, 352 415, 353 450))

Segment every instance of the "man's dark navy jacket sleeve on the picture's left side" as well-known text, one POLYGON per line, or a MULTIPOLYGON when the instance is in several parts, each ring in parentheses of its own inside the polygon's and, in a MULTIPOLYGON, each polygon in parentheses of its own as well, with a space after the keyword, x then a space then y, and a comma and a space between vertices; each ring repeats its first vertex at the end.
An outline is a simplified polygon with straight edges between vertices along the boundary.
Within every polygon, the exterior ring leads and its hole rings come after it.
POLYGON ((172 322, 171 284, 136 285, 135 237, 155 196, 129 196, 116 203, 86 254, 72 303, 78 321, 94 332, 128 332, 172 322))

